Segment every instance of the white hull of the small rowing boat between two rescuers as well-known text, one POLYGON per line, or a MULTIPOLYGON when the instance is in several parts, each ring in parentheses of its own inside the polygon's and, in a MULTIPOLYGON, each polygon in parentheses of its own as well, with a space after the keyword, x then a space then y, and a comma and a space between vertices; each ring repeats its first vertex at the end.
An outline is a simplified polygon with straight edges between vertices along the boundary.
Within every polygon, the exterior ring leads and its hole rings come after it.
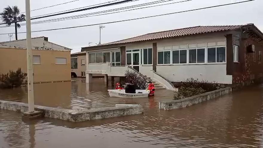
POLYGON ((149 91, 147 90, 136 90, 136 94, 125 93, 125 90, 109 89, 110 97, 122 97, 122 98, 145 98, 148 97, 149 91), (142 92, 142 93, 138 93, 142 92))

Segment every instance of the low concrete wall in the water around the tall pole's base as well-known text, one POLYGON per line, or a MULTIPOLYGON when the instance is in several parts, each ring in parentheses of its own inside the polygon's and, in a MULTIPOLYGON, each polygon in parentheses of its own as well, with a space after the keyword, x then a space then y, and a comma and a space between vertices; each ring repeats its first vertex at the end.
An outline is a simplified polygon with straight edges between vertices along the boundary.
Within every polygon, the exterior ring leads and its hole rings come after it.
MULTIPOLYGON (((27 112, 28 104, 0 100, 0 109, 7 109, 17 112, 27 112)), ((35 105, 35 110, 42 112, 42 116, 44 117, 68 120, 73 122, 111 118, 111 117, 126 116, 126 115, 136 115, 143 113, 143 107, 141 105, 116 106, 116 107, 106 107, 100 109, 85 109, 85 110, 59 109, 59 108, 35 105)))

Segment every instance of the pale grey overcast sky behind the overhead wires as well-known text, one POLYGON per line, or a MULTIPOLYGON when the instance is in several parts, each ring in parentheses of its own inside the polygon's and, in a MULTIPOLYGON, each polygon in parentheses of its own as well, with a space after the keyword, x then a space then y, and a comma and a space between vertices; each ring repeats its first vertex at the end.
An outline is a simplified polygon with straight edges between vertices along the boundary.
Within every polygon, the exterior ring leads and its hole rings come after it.
MULTIPOLYGON (((25 12, 25 0, 0 0, 0 12, 4 7, 18 6, 21 12, 25 12)), ((72 0, 31 0, 31 10, 47 7, 54 4, 65 3, 72 0)), ((99 4, 113 0, 79 0, 68 4, 63 4, 55 7, 50 7, 42 10, 32 11, 31 17, 38 16, 47 13, 58 12, 62 10, 74 9, 79 7, 85 7, 92 4, 99 4)), ((54 19, 65 16, 73 16, 103 10, 109 10, 114 8, 120 8, 125 6, 131 6, 135 4, 142 4, 159 0, 138 0, 135 2, 129 2, 125 4, 119 4, 115 6, 103 7, 99 9, 87 10, 78 13, 70 13, 66 15, 54 16, 49 18, 43 18, 38 20, 32 20, 32 22, 46 19, 54 19)), ((174 0, 182 1, 182 0, 174 0)), ((172 1, 172 2, 174 2, 172 1)), ((103 16, 86 17, 81 19, 66 20, 60 22, 43 23, 31 25, 31 30, 45 30, 52 28, 63 28, 78 25, 88 25, 103 22, 118 21, 123 19, 132 19, 143 16, 158 15, 163 13, 172 13, 183 10, 190 10, 202 7, 209 7, 218 4, 234 3, 244 0, 192 0, 183 3, 169 4, 165 6, 158 6, 152 8, 145 8, 140 10, 127 11, 122 13, 108 14, 103 16)), ((112 42, 133 36, 138 36, 146 33, 172 30, 177 28, 192 27, 198 25, 243 25, 247 23, 254 23, 261 31, 263 31, 263 0, 255 0, 251 2, 234 4, 224 7, 216 7, 205 10, 198 10, 186 13, 172 14, 168 16, 159 16, 148 19, 140 19, 127 22, 118 22, 113 24, 106 24, 106 28, 102 30, 102 43, 112 42)), ((25 23, 25 22, 21 22, 25 23)), ((2 25, 1 25, 2 26, 2 25)), ((18 32, 26 31, 26 27, 22 26, 18 29, 18 32)), ((0 28, 0 33, 13 33, 14 27, 0 28)), ((99 42, 99 26, 89 26, 82 28, 73 28, 66 30, 55 30, 32 33, 32 37, 46 36, 50 42, 72 48, 74 52, 80 51, 81 47, 95 45, 99 42)), ((18 34, 18 39, 26 38, 26 34, 18 34)), ((15 35, 13 35, 15 39, 15 35)), ((0 42, 9 40, 8 35, 0 35, 0 42)))

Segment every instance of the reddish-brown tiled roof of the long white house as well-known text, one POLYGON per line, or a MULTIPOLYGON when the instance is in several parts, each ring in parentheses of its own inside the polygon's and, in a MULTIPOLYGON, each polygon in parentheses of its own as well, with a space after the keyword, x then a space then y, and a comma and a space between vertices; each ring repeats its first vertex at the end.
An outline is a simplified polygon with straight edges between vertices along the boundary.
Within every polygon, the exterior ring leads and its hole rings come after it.
MULTIPOLYGON (((218 31, 227 31, 227 30, 236 30, 243 25, 227 25, 227 26, 195 26, 189 28, 181 28, 175 30, 167 30, 155 33, 148 33, 141 36, 132 37, 129 39, 123 39, 116 42, 110 42, 106 44, 96 45, 96 46, 105 46, 105 45, 115 45, 115 44, 124 44, 131 42, 139 42, 139 41, 147 41, 153 39, 164 39, 178 36, 187 36, 201 33, 210 33, 210 32, 218 32, 218 31)), ((85 48, 90 48, 95 46, 89 46, 85 48)))

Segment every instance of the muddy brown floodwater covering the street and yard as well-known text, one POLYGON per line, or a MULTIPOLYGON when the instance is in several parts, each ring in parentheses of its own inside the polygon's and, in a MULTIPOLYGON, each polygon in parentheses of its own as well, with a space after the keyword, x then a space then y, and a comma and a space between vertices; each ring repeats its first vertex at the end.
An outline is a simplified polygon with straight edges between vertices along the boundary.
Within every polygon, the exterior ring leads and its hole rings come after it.
MULTIPOLYGON (((171 99, 170 91, 158 90, 151 98, 120 99, 109 98, 99 83, 88 87, 84 81, 69 84, 46 84, 48 88, 35 85, 36 104, 91 108, 138 103, 146 111, 142 115, 73 123, 51 118, 27 121, 22 120, 20 113, 0 110, 0 148, 263 147, 263 86, 245 88, 184 109, 163 111, 158 109, 158 100, 171 99), (40 93, 38 87, 46 91, 40 93), (166 94, 168 97, 164 97, 166 94)), ((12 91, 0 92, 1 99, 9 96, 8 100, 26 102, 21 99, 25 98, 25 89, 12 91)))

